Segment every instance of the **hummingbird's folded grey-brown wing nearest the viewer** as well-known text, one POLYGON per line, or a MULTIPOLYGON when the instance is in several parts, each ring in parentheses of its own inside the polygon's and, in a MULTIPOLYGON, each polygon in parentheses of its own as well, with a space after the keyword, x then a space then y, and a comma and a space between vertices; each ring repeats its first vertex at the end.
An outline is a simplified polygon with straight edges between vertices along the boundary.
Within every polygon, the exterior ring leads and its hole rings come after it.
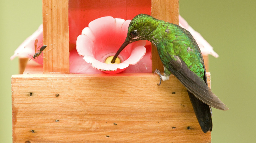
POLYGON ((191 71, 179 56, 168 63, 168 70, 203 103, 220 110, 228 110, 226 105, 206 85, 205 81, 191 71))

